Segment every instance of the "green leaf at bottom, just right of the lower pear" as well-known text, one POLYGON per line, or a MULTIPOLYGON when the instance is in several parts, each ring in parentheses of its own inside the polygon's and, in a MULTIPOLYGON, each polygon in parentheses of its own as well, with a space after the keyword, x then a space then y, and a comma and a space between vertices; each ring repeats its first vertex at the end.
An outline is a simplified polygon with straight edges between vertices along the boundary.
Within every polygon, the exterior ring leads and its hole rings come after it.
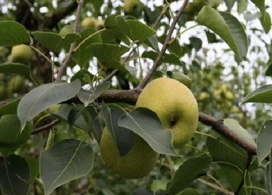
POLYGON ((211 157, 208 155, 189 158, 175 172, 174 178, 168 183, 167 192, 177 194, 186 189, 191 182, 205 173, 203 169, 210 164, 211 157))

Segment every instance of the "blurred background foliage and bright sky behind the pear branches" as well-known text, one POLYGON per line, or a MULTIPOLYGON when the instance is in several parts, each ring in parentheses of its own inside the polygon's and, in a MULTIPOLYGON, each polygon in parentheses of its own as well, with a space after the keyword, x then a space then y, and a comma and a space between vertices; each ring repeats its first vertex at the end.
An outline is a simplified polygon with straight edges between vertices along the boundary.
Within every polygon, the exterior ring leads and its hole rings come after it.
MULTIPOLYGON (((163 6, 162 0, 142 0, 141 12, 132 13, 140 21, 152 26, 160 15, 163 6)), ((170 7, 161 21, 155 26, 157 29, 157 39, 163 43, 172 13, 175 13, 183 1, 171 0, 170 7), (173 1, 173 2, 172 2, 173 1)), ((248 59, 238 62, 232 51, 224 44, 217 35, 210 30, 196 27, 188 30, 175 40, 170 49, 174 51, 181 64, 163 63, 156 76, 167 74, 167 71, 187 74, 193 81, 191 90, 198 100, 199 110, 214 116, 215 118, 233 118, 239 121, 240 125, 247 129, 255 138, 259 127, 272 116, 271 106, 264 104, 247 104, 239 106, 242 99, 253 89, 256 89, 271 81, 272 75, 269 66, 272 63, 271 32, 263 30, 263 24, 259 18, 259 11, 251 1, 247 0, 190 0, 187 8, 179 20, 174 34, 185 30, 195 24, 195 17, 204 5, 210 5, 220 11, 229 11, 237 16, 243 23, 249 36, 248 59)), ((271 2, 267 2, 268 12, 271 10, 271 2)), ((99 21, 112 14, 124 15, 124 3, 121 0, 85 0, 80 20, 85 17, 94 17, 99 21)), ((50 30, 59 32, 66 24, 72 24, 75 20, 75 0, 0 0, 0 20, 16 20, 23 24, 28 30, 50 30), (30 7, 29 7, 30 5, 30 7), (59 16, 65 16, 60 18, 59 16), (44 23, 36 23, 33 18, 44 18, 44 23)), ((42 48, 45 54, 52 59, 52 54, 42 48)), ((142 53, 146 48, 140 46, 142 53)), ((11 48, 0 47, 0 63, 9 61, 11 48)), ((140 63, 137 60, 137 53, 131 56, 129 63, 137 68, 137 78, 141 78, 152 66, 153 61, 148 58, 141 59, 143 72, 140 71, 140 63), (143 74, 143 75, 141 75, 143 74)), ((55 56, 55 64, 59 66, 65 58, 64 52, 55 56)), ((42 83, 50 82, 51 66, 41 57, 33 53, 30 61, 31 69, 42 83)), ((85 67, 92 74, 98 71, 97 60, 92 59, 85 67)), ((79 66, 71 63, 67 71, 67 79, 80 70, 79 66)), ((106 77, 112 70, 100 72, 100 76, 106 77)), ((130 89, 136 86, 139 80, 126 78, 122 74, 117 74, 112 80, 112 87, 117 89, 130 89)), ((30 82, 18 75, 0 75, 0 100, 18 97, 31 90, 33 86, 30 82)), ((42 126, 50 121, 50 115, 41 114, 35 120, 35 127, 42 126), (41 118, 41 116, 43 116, 41 118)), ((55 134, 54 142, 58 142, 66 137, 80 138, 83 131, 80 128, 71 127, 68 131, 68 124, 61 122, 53 129, 55 134), (69 135, 68 135, 69 134, 69 135)), ((199 124, 199 132, 207 133, 211 129, 203 124, 199 124)), ((29 154, 35 158, 39 157, 39 152, 43 150, 48 133, 34 135, 19 150, 18 154, 29 154)), ((182 158, 163 157, 159 175, 158 166, 149 176, 141 180, 125 180, 112 173, 104 166, 100 157, 99 148, 93 142, 95 150, 95 163, 93 170, 84 178, 73 180, 59 188, 53 195, 128 195, 136 187, 146 189, 165 189, 167 182, 173 177, 174 170, 186 159, 206 151, 206 136, 195 134, 189 145, 183 151, 182 158), (198 150, 196 150, 197 148, 198 150)), ((210 174, 219 180, 224 186, 227 182, 222 177, 220 168, 217 165, 211 166, 210 174)), ((252 182, 255 186, 264 188, 264 170, 259 168, 252 172, 252 182)), ((215 189, 213 185, 218 185, 212 178, 196 180, 191 187, 198 189, 203 195, 215 193, 221 195, 222 192, 215 189)), ((32 186, 32 195, 42 194, 42 185, 38 180, 32 186)), ((259 190, 253 190, 253 195, 265 194, 259 190)))

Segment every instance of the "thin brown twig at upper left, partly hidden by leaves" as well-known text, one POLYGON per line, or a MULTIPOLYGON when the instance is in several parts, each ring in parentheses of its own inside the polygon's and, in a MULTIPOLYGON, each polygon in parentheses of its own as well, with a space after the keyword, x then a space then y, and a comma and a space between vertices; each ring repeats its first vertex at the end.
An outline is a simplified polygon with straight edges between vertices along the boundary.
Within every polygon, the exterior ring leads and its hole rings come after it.
MULTIPOLYGON (((84 0, 80 0, 80 2, 78 3, 78 6, 77 6, 76 22, 75 22, 75 26, 74 26, 74 32, 75 33, 78 32, 79 18, 80 18, 80 13, 81 13, 81 9, 82 9, 83 3, 84 3, 84 0)), ((68 61, 70 60, 70 58, 72 57, 72 55, 74 53, 73 51, 75 49, 75 45, 76 45, 75 42, 71 44, 70 50, 69 50, 69 53, 68 53, 67 57, 65 58, 62 66, 60 66, 58 68, 58 74, 57 74, 56 80, 60 80, 61 76, 63 75, 64 71, 66 70, 66 67, 68 65, 68 61)))

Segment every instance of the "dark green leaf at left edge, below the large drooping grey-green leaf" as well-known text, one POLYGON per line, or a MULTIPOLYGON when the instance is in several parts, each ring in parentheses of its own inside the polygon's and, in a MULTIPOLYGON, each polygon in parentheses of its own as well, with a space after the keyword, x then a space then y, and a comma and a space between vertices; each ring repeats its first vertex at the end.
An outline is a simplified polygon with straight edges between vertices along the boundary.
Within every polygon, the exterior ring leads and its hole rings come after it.
POLYGON ((4 115, 0 119, 0 152, 7 156, 24 144, 33 131, 33 125, 28 122, 22 133, 17 115, 4 115))

